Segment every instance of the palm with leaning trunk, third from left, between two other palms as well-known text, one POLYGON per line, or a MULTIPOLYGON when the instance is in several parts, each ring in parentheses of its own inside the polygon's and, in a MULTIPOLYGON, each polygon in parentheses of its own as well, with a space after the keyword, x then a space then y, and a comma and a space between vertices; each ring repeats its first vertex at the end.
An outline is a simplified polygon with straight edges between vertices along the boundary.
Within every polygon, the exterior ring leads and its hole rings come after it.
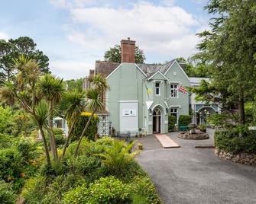
POLYGON ((65 95, 64 100, 66 104, 68 104, 68 107, 66 108, 66 114, 65 117, 67 120, 71 121, 71 126, 67 135, 66 143, 64 145, 61 158, 64 157, 66 153, 66 148, 69 145, 70 136, 73 132, 73 128, 80 116, 80 114, 84 110, 84 92, 79 91, 73 91, 69 92, 65 95))

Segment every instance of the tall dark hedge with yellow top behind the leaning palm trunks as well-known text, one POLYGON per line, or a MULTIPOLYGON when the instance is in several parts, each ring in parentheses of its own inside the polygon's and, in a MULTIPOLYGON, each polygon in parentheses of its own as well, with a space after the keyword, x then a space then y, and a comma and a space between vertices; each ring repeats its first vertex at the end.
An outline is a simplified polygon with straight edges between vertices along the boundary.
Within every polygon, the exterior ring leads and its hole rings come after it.
MULTIPOLYGON (((75 128, 73 129, 73 133, 71 134, 71 140, 75 141, 79 139, 79 136, 82 134, 84 127, 86 126, 87 121, 89 120, 91 113, 86 113, 83 112, 81 113, 81 115, 79 116, 78 121, 75 124, 75 128)), ((87 127, 86 130, 86 138, 88 138, 89 140, 94 140, 95 135, 97 133, 97 125, 99 122, 99 117, 95 114, 92 117, 92 120, 89 123, 89 126, 87 127)), ((71 121, 68 121, 68 125, 69 128, 71 126, 71 121)))

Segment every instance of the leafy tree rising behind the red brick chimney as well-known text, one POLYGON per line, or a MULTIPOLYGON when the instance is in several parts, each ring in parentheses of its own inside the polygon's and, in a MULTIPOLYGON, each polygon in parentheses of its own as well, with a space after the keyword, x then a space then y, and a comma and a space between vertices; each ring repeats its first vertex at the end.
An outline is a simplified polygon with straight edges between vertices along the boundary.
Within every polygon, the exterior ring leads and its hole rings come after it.
MULTIPOLYGON (((105 61, 108 62, 120 62, 121 63, 121 46, 115 45, 111 47, 109 50, 105 51, 104 54, 105 61)), ((144 63, 146 57, 144 56, 144 52, 138 46, 135 46, 135 62, 136 63, 144 63)))

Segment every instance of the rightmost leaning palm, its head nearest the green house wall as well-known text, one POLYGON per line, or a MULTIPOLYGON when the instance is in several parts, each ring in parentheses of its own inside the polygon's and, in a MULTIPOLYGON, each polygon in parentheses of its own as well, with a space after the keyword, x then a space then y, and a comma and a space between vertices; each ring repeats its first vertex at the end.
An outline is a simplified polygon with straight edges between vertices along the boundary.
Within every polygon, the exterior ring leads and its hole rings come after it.
POLYGON ((86 108, 87 110, 91 111, 91 116, 89 116, 89 120, 87 121, 86 126, 84 127, 83 132, 79 137, 79 142, 76 146, 75 156, 78 153, 79 146, 83 139, 83 135, 85 135, 86 129, 89 126, 89 123, 91 122, 92 117, 94 116, 96 111, 102 110, 103 108, 102 100, 100 100, 100 97, 99 97, 99 90, 96 88, 89 88, 86 91, 86 102, 87 102, 86 108))

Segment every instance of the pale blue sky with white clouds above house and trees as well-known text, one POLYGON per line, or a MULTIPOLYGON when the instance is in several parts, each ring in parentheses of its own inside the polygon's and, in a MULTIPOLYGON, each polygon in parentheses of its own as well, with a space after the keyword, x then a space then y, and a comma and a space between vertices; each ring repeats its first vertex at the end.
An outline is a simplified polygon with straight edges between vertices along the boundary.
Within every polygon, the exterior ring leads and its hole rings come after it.
POLYGON ((31 37, 50 58, 50 70, 81 78, 106 49, 131 37, 146 62, 196 52, 196 33, 208 27, 207 0, 8 0, 0 7, 0 38, 31 37))

